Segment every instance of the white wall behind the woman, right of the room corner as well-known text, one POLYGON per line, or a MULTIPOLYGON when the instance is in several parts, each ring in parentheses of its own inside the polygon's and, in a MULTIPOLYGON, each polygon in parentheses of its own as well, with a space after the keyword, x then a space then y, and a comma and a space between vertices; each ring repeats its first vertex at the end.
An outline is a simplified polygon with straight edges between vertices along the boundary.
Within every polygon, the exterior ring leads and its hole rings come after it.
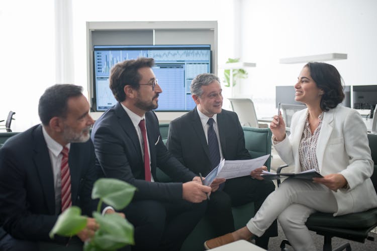
POLYGON ((252 95, 258 116, 274 114, 276 85, 293 85, 305 65, 280 58, 346 53, 328 61, 346 85, 376 85, 377 1, 242 1, 242 59, 256 62, 239 93, 252 95), (271 113, 272 110, 272 113, 271 113))

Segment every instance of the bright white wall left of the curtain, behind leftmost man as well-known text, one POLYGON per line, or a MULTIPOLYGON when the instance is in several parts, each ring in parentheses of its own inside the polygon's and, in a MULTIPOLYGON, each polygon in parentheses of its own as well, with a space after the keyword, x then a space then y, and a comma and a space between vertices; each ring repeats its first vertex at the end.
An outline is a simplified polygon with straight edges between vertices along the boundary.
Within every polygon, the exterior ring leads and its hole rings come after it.
POLYGON ((55 83, 54 36, 54 1, 1 1, 0 120, 16 112, 14 131, 39 123, 39 97, 55 83))

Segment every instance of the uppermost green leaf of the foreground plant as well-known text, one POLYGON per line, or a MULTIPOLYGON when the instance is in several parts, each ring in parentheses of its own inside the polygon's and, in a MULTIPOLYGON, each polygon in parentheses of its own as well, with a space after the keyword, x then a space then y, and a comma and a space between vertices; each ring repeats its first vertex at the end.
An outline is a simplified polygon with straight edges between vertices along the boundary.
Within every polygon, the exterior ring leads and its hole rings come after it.
POLYGON ((91 192, 93 199, 100 198, 117 210, 126 207, 134 196, 136 187, 119 179, 98 179, 91 192))

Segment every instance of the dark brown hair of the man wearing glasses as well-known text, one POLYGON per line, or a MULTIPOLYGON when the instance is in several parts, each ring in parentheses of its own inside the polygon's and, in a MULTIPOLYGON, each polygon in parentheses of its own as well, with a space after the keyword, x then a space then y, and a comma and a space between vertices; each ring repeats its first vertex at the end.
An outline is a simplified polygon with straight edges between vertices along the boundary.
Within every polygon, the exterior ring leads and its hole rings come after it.
POLYGON ((124 87, 126 85, 138 90, 140 88, 139 82, 141 75, 138 70, 143 67, 154 66, 154 59, 152 58, 138 58, 126 60, 116 64, 110 72, 110 89, 118 102, 126 99, 124 87))

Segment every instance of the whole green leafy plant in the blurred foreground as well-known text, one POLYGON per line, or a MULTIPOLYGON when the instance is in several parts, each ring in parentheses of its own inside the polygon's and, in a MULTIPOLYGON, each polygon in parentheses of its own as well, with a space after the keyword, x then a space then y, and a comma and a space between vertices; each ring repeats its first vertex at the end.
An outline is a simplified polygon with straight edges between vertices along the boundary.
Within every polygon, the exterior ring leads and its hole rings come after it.
MULTIPOLYGON (((85 242, 84 251, 116 250, 127 244, 134 244, 134 227, 117 213, 101 214, 102 203, 113 206, 116 210, 126 207, 134 196, 136 187, 111 178, 97 180, 91 192, 92 199, 100 199, 97 212, 93 212, 100 228, 90 241, 85 242)), ((73 236, 86 226, 86 216, 81 215, 81 209, 71 206, 66 209, 50 231, 50 238, 55 234, 73 236)))

